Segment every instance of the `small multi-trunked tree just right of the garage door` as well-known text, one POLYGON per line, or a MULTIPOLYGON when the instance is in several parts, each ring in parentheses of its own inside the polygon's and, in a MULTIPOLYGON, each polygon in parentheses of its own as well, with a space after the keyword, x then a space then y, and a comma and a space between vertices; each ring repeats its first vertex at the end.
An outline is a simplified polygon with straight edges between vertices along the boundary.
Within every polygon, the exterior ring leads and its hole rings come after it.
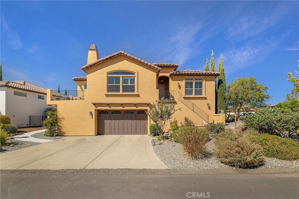
POLYGON ((164 136, 164 131, 168 120, 170 120, 176 111, 180 111, 181 108, 176 109, 174 104, 170 104, 169 100, 162 99, 161 101, 153 102, 149 105, 149 111, 147 115, 158 126, 158 133, 160 137, 164 136))

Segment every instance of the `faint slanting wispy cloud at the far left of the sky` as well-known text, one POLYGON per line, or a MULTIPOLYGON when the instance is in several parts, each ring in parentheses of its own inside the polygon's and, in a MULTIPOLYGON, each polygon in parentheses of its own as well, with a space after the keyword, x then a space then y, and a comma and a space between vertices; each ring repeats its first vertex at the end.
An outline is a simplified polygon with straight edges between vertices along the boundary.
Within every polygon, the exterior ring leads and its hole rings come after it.
POLYGON ((19 34, 10 28, 3 15, 1 15, 1 26, 2 31, 6 34, 8 42, 10 42, 11 47, 15 49, 22 48, 22 43, 19 34))

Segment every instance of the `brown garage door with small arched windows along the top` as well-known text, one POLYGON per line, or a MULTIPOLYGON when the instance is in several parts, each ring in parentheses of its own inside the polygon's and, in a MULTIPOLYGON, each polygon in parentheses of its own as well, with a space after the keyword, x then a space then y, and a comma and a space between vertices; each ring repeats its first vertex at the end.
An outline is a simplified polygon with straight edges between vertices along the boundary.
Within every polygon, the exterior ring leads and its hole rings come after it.
POLYGON ((145 111, 102 110, 97 113, 98 135, 147 134, 145 111))

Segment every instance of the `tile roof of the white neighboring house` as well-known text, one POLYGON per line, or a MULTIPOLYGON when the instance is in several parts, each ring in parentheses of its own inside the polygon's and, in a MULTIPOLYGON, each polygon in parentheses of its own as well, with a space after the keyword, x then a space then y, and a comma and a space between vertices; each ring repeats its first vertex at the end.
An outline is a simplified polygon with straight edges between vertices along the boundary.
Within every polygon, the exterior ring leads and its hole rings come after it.
POLYGON ((47 89, 25 81, 0 81, 0 87, 15 88, 23 91, 47 94, 47 89))

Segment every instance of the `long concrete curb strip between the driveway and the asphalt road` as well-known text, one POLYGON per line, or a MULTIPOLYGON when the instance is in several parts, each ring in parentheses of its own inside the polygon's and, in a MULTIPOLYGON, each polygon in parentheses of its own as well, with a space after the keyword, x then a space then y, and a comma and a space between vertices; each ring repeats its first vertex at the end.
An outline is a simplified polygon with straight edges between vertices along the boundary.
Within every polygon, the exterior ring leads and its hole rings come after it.
POLYGON ((266 169, 1 169, 1 175, 102 175, 102 174, 299 174, 299 168, 266 169))

